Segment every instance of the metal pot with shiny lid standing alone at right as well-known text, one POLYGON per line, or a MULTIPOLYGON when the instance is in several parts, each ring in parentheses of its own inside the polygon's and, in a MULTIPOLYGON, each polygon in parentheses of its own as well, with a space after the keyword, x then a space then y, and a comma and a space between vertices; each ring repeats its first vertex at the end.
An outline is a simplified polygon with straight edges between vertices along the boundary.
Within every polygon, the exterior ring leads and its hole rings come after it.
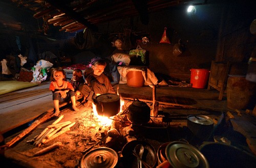
POLYGON ((187 128, 195 137, 206 141, 214 130, 214 121, 208 116, 189 115, 187 116, 187 128))

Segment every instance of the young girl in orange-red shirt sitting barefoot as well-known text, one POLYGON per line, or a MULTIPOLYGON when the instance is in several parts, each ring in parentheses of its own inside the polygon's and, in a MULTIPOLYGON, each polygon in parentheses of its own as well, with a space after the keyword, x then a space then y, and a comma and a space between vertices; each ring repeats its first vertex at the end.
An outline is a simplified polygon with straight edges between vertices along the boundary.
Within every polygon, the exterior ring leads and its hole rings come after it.
POLYGON ((79 109, 76 108, 74 88, 71 83, 67 81, 65 71, 62 68, 54 68, 51 74, 51 80, 49 90, 53 93, 55 116, 59 115, 59 101, 61 101, 61 98, 64 100, 71 99, 72 108, 78 111, 79 109))

